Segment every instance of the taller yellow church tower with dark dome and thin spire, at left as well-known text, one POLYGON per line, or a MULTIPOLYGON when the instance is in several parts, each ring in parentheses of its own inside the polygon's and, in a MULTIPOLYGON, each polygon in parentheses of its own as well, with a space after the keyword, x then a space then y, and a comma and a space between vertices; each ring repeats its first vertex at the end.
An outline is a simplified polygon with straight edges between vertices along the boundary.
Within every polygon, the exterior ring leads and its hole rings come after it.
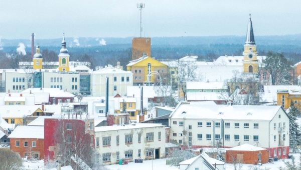
POLYGON ((69 71, 69 53, 68 49, 66 48, 66 41, 65 41, 65 33, 63 35, 62 40, 62 48, 60 50, 59 57, 59 70, 60 71, 69 71))

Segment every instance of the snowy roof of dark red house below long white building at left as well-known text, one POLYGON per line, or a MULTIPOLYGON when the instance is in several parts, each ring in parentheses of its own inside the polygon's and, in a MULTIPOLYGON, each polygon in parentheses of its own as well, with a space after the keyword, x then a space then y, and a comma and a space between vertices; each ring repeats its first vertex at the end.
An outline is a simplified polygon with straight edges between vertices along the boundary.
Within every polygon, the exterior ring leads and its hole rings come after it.
POLYGON ((74 97, 70 92, 64 91, 60 88, 27 88, 24 92, 32 92, 32 93, 41 93, 46 92, 49 93, 50 97, 74 97))

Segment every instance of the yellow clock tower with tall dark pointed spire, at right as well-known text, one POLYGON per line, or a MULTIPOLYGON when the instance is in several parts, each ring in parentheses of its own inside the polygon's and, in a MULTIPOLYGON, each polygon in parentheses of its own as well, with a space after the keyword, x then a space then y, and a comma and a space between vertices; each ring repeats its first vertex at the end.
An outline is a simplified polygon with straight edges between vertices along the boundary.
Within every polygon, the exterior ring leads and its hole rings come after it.
POLYGON ((253 33, 253 26, 251 20, 251 14, 247 29, 246 42, 244 44, 243 57, 243 72, 244 73, 258 73, 258 60, 255 38, 253 33))

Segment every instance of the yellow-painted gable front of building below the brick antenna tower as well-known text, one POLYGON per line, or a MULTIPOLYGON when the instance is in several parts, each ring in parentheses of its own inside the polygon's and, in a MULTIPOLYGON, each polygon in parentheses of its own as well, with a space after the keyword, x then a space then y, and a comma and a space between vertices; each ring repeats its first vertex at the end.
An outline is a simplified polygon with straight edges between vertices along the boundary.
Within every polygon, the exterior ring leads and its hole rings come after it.
MULTIPOLYGON (((128 71, 132 71, 135 68, 142 68, 144 69, 144 79, 147 79, 147 65, 148 63, 150 63, 150 71, 157 71, 157 68, 168 68, 167 65, 165 65, 164 63, 152 58, 152 57, 146 57, 145 59, 141 59, 141 61, 138 61, 137 63, 133 64, 133 65, 129 65, 127 66, 127 70, 128 71)), ((132 71, 133 72, 133 71, 132 71)), ((154 82, 154 77, 155 76, 150 76, 150 81, 154 82)))

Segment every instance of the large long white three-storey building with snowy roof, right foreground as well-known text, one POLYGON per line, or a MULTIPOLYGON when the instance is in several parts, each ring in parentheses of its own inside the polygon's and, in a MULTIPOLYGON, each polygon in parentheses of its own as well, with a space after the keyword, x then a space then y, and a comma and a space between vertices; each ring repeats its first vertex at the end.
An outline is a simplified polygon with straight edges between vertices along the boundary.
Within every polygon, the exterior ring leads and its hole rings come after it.
POLYGON ((180 102, 170 115, 171 141, 193 147, 249 143, 287 157, 289 118, 281 106, 200 105, 180 102))

